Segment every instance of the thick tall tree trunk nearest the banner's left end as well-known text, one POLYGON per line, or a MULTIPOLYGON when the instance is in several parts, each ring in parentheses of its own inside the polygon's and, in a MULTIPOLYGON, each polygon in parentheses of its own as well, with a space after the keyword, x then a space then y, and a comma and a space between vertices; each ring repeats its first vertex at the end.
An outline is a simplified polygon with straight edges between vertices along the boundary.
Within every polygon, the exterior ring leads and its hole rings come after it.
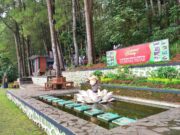
POLYGON ((85 20, 86 20, 86 37, 88 64, 93 64, 93 18, 92 18, 93 0, 84 0, 85 20))

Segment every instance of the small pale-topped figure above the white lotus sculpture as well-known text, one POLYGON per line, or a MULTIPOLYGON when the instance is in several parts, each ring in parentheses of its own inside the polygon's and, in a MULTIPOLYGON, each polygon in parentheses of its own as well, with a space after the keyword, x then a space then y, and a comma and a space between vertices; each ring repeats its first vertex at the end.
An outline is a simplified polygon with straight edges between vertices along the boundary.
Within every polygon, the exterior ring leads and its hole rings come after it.
POLYGON ((91 89, 94 93, 97 93, 99 89, 99 81, 98 78, 95 75, 92 75, 88 78, 89 83, 91 85, 91 89))

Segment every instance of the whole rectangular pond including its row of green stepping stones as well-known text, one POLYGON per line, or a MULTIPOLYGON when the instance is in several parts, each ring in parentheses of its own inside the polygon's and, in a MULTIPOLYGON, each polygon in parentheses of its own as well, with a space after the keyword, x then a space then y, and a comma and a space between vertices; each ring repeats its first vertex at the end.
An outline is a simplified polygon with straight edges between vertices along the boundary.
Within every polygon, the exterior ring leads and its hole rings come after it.
POLYGON ((135 122, 138 119, 142 119, 167 110, 164 108, 157 108, 122 101, 114 101, 107 104, 74 104, 74 102, 76 101, 74 100, 74 95, 71 94, 62 96, 53 95, 53 98, 54 99, 52 100, 47 100, 45 98, 43 99, 42 97, 38 99, 47 104, 58 107, 59 109, 67 113, 93 122, 106 129, 112 129, 120 125, 128 125, 129 123, 135 122), (65 100, 65 102, 60 101, 61 103, 56 104, 56 98, 65 100), (85 108, 85 110, 81 110, 82 108, 85 108), (90 111, 90 109, 94 110, 95 112, 90 111), (99 114, 97 113, 97 111, 99 111, 99 114), (91 115, 90 113, 97 113, 97 115, 91 115), (122 119, 123 122, 127 124, 122 124, 122 119), (121 123, 119 123, 119 120, 121 120, 121 123))

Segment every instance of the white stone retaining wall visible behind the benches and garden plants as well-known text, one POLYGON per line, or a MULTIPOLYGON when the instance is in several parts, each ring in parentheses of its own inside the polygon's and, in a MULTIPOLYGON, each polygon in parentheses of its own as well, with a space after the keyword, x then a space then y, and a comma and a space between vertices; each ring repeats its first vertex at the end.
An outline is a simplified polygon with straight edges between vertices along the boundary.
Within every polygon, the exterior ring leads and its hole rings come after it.
MULTIPOLYGON (((156 70, 160 67, 168 67, 167 65, 163 66, 144 66, 144 67, 131 67, 130 71, 133 75, 138 77, 148 77, 149 73, 153 70, 156 70)), ((180 64, 169 65, 169 67, 175 67, 180 70, 180 64)), ((79 86, 80 83, 86 82, 87 78, 94 72, 95 70, 85 70, 85 71, 74 71, 74 72, 63 72, 63 76, 66 77, 67 81, 73 81, 75 86, 79 86)), ((103 73, 108 72, 117 72, 117 69, 101 69, 103 73)), ((47 82, 46 77, 33 77, 33 83, 44 86, 44 83, 47 82)))

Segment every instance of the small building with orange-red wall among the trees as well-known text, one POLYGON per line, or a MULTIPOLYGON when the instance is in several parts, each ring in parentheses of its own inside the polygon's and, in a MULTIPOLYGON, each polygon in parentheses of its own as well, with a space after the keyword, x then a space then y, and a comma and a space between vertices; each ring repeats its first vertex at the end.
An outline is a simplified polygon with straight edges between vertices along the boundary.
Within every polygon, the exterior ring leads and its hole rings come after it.
POLYGON ((29 58, 33 75, 43 75, 53 66, 54 60, 49 56, 33 55, 29 58))

